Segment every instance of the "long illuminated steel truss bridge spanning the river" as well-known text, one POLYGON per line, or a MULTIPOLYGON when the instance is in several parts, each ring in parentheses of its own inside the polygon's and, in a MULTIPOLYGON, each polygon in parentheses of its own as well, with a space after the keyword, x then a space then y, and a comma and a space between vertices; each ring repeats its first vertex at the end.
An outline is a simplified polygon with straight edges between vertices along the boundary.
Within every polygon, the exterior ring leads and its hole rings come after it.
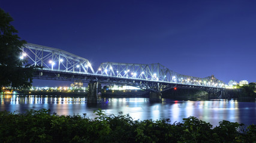
POLYGON ((225 83, 214 76, 194 77, 176 73, 159 63, 101 63, 94 69, 86 58, 61 49, 27 43, 22 47, 21 60, 30 66, 41 66, 35 79, 100 82, 111 85, 130 85, 150 91, 171 88, 201 89, 207 92, 225 90, 225 83))

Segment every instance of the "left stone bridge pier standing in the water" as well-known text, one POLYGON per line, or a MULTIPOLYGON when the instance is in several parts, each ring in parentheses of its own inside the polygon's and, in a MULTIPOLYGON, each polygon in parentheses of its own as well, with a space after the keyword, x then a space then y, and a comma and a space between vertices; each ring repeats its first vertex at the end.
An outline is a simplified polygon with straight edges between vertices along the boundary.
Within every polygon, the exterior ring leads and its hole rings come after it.
POLYGON ((88 96, 87 96, 87 102, 88 103, 98 103, 98 102, 100 102, 101 95, 98 94, 100 92, 98 90, 98 88, 101 87, 101 86, 99 86, 99 85, 100 85, 100 83, 98 83, 98 82, 90 81, 88 83, 88 89, 89 89, 88 96))

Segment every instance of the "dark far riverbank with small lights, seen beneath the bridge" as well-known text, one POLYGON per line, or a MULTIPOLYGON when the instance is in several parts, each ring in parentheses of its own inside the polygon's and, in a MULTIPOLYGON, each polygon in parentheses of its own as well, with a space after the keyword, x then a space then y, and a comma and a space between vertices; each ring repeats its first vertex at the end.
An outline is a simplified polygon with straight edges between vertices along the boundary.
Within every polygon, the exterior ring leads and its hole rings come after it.
MULTIPOLYGON (((200 91, 196 89, 170 89, 168 91, 163 91, 162 98, 173 99, 173 100, 212 100, 219 99, 220 93, 213 95, 208 94, 205 91, 200 91)), ((256 96, 254 94, 246 95, 243 89, 230 89, 225 92, 225 95, 221 96, 221 99, 236 99, 239 101, 255 101, 256 96)), ((57 91, 57 90, 23 90, 17 92, 19 95, 53 95, 62 97, 87 97, 88 91, 86 90, 67 90, 67 91, 57 91)), ((102 98, 147 98, 149 97, 149 91, 144 90, 106 90, 102 89, 100 92, 102 98)))

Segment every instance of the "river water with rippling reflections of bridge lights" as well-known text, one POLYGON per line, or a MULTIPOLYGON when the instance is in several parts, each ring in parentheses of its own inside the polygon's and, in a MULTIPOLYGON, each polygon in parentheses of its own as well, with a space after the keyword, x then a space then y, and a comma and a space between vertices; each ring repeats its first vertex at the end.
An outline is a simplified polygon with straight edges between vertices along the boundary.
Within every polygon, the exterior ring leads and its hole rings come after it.
POLYGON ((150 103, 149 98, 107 98, 100 104, 89 105, 85 97, 58 96, 19 96, 1 95, 0 111, 15 111, 24 113, 26 110, 41 108, 50 109, 59 115, 80 114, 94 119, 94 110, 101 108, 106 114, 118 115, 120 111, 129 114, 134 120, 170 119, 182 122, 182 119, 195 116, 213 126, 218 126, 222 120, 256 124, 256 102, 240 102, 237 100, 209 100, 209 101, 175 101, 163 99, 161 103, 150 103))

